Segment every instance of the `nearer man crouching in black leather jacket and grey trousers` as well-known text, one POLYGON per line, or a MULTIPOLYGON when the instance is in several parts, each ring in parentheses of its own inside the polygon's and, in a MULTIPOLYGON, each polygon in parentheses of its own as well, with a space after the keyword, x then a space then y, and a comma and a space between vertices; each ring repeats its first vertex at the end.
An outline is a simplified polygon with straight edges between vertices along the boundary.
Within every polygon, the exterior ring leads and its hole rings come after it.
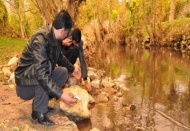
POLYGON ((81 78, 80 70, 61 54, 60 41, 67 37, 71 28, 69 13, 60 11, 52 25, 39 28, 31 36, 15 70, 17 95, 24 100, 34 98, 31 116, 43 125, 54 125, 47 116, 53 111, 48 107, 50 98, 63 100, 68 105, 76 102, 72 93, 62 92, 68 72, 76 79, 81 78))

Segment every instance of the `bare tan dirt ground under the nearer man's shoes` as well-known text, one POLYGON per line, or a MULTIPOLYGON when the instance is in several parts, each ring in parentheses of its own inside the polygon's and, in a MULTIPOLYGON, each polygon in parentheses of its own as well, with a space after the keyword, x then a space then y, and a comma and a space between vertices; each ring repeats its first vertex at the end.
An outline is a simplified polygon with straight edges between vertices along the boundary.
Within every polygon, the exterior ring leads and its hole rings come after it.
MULTIPOLYGON (((47 127, 34 123, 31 120, 31 103, 32 100, 20 99, 16 95, 15 87, 0 83, 0 131, 78 130, 77 125, 61 115, 59 110, 50 116, 56 123, 55 126, 47 127)), ((57 103, 52 100, 50 105, 55 107, 57 103)))

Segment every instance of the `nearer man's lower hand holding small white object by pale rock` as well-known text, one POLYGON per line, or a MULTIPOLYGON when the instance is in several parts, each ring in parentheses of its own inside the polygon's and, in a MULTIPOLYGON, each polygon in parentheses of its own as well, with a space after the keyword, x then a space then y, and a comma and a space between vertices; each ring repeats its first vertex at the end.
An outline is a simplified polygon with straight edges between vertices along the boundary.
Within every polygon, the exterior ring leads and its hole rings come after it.
POLYGON ((60 99, 63 100, 65 102, 65 104, 70 105, 70 106, 72 106, 77 101, 71 92, 63 93, 61 95, 60 99))

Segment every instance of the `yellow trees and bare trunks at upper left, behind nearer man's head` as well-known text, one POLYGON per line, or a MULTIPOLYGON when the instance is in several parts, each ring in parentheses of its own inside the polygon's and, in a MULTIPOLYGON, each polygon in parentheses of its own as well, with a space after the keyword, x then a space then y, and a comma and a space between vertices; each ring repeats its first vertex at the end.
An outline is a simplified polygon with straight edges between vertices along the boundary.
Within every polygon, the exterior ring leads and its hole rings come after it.
POLYGON ((7 22, 7 28, 9 28, 7 32, 3 34, 9 37, 26 38, 39 26, 51 23, 54 16, 61 9, 68 10, 73 19, 75 19, 79 4, 82 1, 83 0, 0 0, 0 24, 2 24, 3 26, 1 27, 4 28, 7 22))

